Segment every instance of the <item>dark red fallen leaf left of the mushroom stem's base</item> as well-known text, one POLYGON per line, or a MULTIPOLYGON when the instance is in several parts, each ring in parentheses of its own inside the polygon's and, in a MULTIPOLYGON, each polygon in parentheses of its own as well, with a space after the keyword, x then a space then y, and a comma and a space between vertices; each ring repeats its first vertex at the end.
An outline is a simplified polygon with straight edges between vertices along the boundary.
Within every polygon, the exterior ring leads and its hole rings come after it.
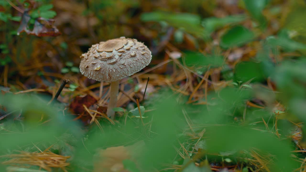
POLYGON ((85 111, 83 104, 86 107, 90 107, 96 102, 97 100, 91 95, 86 95, 84 97, 76 96, 74 100, 72 101, 72 103, 69 105, 69 108, 74 114, 82 114, 85 111))

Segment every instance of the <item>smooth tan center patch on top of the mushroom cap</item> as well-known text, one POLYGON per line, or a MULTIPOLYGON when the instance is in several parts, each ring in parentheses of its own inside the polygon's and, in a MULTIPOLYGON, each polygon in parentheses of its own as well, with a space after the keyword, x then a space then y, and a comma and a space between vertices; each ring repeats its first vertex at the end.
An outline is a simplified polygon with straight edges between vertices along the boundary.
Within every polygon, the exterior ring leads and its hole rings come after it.
POLYGON ((119 50, 127 43, 128 43, 127 39, 111 39, 109 41, 106 41, 104 44, 99 45, 98 51, 112 52, 114 49, 119 50))

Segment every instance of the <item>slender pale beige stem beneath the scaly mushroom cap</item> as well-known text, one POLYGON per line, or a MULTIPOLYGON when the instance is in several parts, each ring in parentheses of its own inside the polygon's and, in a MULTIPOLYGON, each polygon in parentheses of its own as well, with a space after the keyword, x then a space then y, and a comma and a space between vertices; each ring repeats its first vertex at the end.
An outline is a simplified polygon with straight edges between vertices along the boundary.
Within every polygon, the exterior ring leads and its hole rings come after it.
POLYGON ((114 119, 115 111, 114 107, 117 107, 117 96, 119 91, 119 80, 110 83, 110 101, 107 107, 107 116, 110 119, 114 119))

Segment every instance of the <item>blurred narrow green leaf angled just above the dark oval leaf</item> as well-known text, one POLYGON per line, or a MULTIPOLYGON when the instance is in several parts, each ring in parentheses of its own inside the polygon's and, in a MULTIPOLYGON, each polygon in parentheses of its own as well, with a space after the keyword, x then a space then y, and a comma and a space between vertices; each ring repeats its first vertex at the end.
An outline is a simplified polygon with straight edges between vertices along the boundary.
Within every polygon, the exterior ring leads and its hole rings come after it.
POLYGON ((208 17, 202 21, 202 25, 208 32, 213 32, 216 29, 222 28, 227 24, 235 24, 246 19, 245 15, 233 15, 233 16, 226 16, 223 18, 218 17, 208 17))

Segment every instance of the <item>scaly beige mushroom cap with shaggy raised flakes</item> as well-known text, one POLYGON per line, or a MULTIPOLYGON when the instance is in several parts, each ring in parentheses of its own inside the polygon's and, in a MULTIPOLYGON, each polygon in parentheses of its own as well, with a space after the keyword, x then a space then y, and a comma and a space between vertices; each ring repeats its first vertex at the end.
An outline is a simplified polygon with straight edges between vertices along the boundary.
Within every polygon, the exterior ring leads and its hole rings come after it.
POLYGON ((152 55, 136 39, 120 37, 92 45, 80 58, 80 72, 85 77, 114 82, 143 69, 151 62, 152 55))

